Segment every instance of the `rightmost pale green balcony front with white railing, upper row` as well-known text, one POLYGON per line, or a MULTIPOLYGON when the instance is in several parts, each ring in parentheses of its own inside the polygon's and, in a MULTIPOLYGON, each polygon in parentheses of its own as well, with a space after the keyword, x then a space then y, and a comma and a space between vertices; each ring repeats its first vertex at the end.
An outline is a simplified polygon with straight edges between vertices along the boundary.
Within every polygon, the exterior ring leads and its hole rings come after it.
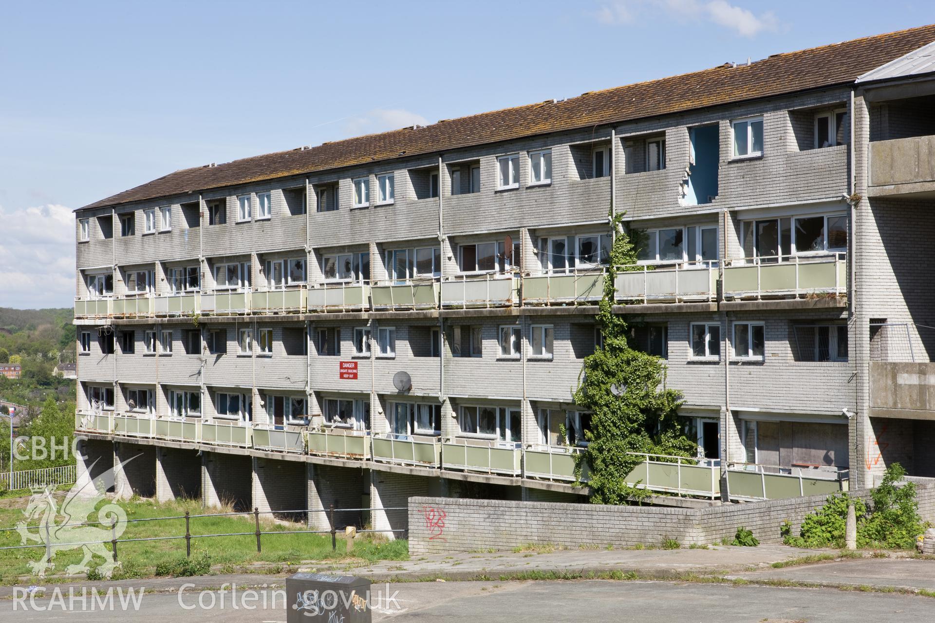
POLYGON ((845 253, 727 260, 724 298, 762 299, 847 291, 845 253))

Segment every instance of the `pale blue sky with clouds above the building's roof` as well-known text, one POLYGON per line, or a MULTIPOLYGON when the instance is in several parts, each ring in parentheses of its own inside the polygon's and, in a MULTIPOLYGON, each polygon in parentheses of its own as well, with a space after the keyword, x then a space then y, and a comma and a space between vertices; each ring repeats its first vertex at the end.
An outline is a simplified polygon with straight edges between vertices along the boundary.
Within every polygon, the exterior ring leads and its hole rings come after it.
POLYGON ((176 169, 933 21, 901 0, 3 3, 0 306, 71 304, 71 210, 176 169))

